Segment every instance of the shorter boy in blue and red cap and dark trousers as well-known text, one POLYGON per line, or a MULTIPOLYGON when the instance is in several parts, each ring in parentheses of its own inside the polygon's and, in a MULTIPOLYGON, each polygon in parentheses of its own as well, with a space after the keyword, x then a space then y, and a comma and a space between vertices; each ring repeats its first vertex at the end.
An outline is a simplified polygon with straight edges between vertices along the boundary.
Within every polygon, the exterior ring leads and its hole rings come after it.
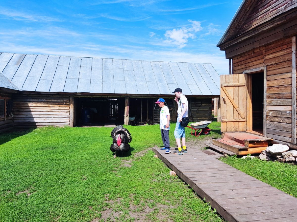
POLYGON ((160 98, 156 102, 158 106, 161 108, 160 111, 160 129, 161 129, 161 136, 163 140, 164 147, 161 150, 165 150, 165 153, 170 153, 170 146, 169 146, 169 129, 170 129, 170 114, 169 109, 164 104, 165 100, 160 98))

